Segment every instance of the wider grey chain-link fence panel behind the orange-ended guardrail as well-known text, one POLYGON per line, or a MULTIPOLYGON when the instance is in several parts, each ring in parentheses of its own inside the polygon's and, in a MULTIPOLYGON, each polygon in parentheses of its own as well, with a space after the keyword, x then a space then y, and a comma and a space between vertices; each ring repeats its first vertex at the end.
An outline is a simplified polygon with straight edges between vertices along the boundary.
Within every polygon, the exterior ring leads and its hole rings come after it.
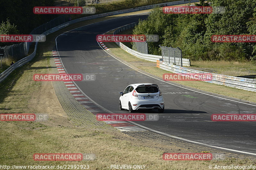
POLYGON ((182 53, 179 47, 172 48, 166 46, 160 46, 162 49, 163 61, 169 64, 181 65, 182 67, 182 53))

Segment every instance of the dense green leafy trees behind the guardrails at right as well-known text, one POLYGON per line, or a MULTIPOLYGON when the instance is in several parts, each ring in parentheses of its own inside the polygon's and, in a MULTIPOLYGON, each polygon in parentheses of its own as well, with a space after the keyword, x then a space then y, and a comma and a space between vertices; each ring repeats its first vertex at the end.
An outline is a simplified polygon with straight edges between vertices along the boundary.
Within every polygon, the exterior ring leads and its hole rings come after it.
MULTIPOLYGON (((256 35, 256 0, 211 0, 224 6, 224 14, 164 14, 155 9, 140 21, 134 34, 158 34, 159 42, 149 43, 149 53, 161 55, 161 46, 180 47, 193 60, 255 60, 256 43, 213 43, 212 35, 256 35)), ((210 6, 200 1, 197 6, 210 6)))

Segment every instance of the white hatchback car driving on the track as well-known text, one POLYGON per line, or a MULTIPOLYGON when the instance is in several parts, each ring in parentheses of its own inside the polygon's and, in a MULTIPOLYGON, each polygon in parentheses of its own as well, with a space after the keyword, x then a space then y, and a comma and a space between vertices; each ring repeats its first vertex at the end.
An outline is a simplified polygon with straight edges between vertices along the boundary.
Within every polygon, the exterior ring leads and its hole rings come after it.
POLYGON ((163 95, 156 84, 131 84, 119 94, 120 110, 127 109, 132 113, 139 109, 158 109, 159 113, 164 112, 163 95))

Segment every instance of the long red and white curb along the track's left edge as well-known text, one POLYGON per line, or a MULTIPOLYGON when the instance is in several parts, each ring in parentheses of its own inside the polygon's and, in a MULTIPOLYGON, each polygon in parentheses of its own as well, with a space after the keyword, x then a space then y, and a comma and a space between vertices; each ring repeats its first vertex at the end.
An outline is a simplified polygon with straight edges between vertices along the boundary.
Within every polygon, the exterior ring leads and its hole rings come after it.
MULTIPOLYGON (((52 55, 54 57, 55 65, 58 69, 58 72, 60 74, 67 74, 65 69, 62 67, 60 57, 58 56, 57 51, 52 51, 52 55)), ((93 103, 90 99, 88 99, 86 96, 81 93, 81 91, 76 87, 76 85, 73 83, 73 81, 64 81, 64 84, 66 85, 67 89, 71 93, 71 95, 82 105, 86 110, 94 114, 95 116, 97 114, 107 114, 108 112, 101 109, 99 106, 97 106, 95 103, 93 103)), ((137 127, 133 124, 130 124, 125 121, 104 121, 107 124, 111 125, 112 127, 115 127, 116 129, 120 131, 146 131, 145 129, 142 129, 140 127, 137 127)))

